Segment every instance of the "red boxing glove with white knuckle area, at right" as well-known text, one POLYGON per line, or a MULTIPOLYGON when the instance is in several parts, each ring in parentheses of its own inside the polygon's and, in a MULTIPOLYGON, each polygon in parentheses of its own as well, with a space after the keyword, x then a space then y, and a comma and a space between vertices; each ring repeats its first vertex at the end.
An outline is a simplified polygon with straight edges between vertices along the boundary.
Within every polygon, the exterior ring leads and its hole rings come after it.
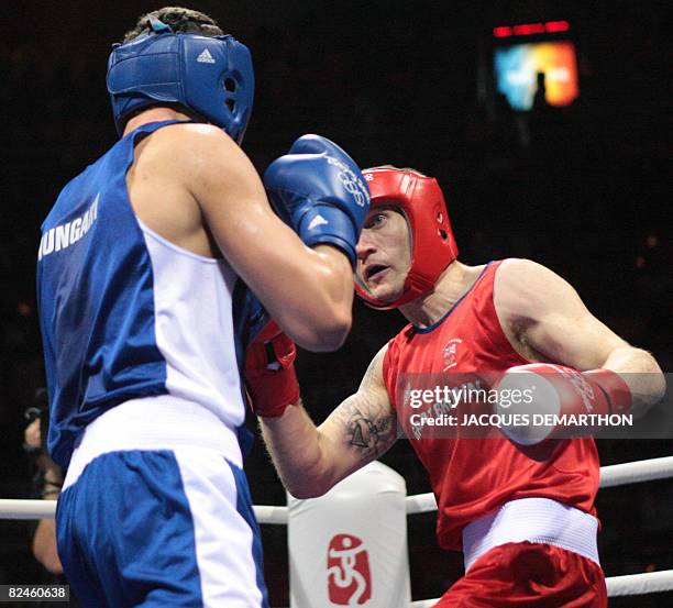
POLYGON ((523 445, 548 438, 592 434, 591 418, 585 427, 569 427, 554 422, 556 417, 582 420, 582 414, 628 413, 631 407, 628 385, 609 369, 577 372, 550 363, 518 365, 505 373, 494 390, 498 393, 497 413, 505 421, 500 429, 523 445), (508 419, 507 414, 522 416, 508 419))

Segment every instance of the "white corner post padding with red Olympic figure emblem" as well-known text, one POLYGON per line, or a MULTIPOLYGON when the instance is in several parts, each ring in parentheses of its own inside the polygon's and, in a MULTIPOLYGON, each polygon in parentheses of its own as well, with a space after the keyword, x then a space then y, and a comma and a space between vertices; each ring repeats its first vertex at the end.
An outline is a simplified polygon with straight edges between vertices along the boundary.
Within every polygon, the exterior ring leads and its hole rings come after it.
POLYGON ((320 498, 288 496, 290 608, 409 608, 406 496, 379 462, 320 498))

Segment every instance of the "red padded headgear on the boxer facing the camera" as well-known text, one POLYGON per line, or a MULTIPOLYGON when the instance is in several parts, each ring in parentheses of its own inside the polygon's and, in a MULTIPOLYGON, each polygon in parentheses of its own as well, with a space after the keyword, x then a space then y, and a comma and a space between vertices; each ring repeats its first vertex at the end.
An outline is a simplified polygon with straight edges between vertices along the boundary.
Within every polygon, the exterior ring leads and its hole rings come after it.
POLYGON ((371 209, 399 208, 406 217, 411 236, 411 264, 402 294, 393 302, 372 296, 358 276, 355 291, 372 308, 397 308, 434 287, 442 272, 457 257, 457 245, 437 179, 395 167, 374 167, 365 169, 363 175, 372 192, 371 209))

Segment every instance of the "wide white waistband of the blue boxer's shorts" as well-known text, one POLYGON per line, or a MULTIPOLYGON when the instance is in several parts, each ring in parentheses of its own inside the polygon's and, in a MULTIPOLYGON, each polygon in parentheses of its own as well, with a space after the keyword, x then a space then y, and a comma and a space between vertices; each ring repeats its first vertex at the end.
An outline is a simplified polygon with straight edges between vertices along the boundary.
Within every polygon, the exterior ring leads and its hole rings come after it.
POLYGON ((78 441, 63 488, 71 486, 97 456, 123 450, 213 450, 242 468, 238 433, 213 412, 173 395, 132 399, 101 413, 78 441))

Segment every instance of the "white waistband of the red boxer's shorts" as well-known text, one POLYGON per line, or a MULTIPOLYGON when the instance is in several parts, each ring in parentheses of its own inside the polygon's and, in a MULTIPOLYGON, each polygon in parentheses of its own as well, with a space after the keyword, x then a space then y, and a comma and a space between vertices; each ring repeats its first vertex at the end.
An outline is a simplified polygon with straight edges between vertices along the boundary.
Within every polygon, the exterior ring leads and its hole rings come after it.
POLYGON ((553 544, 600 565, 597 532, 598 520, 595 517, 556 500, 511 500, 463 529, 465 572, 494 546, 523 541, 553 544))

